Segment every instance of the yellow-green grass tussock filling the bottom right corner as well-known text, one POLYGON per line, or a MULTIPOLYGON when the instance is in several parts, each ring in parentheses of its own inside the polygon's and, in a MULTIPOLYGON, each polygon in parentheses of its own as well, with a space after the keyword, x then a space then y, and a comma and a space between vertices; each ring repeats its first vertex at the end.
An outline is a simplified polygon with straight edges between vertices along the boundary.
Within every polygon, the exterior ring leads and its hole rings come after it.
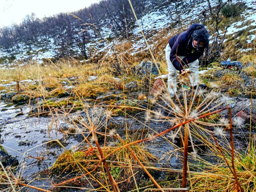
MULTIPOLYGON (((225 150, 225 149, 222 149, 225 150)), ((245 192, 252 192, 256 187, 256 142, 255 135, 251 143, 251 151, 237 151, 235 155, 235 169, 237 170, 237 176, 239 183, 241 184, 245 192)), ((226 159, 231 164, 230 156, 226 153, 226 159)), ((224 163, 224 159, 219 153, 215 154, 220 158, 218 164, 211 164, 203 161, 203 171, 191 173, 191 182, 193 190, 198 192, 203 191, 224 191, 234 192, 235 181, 230 169, 224 163)))

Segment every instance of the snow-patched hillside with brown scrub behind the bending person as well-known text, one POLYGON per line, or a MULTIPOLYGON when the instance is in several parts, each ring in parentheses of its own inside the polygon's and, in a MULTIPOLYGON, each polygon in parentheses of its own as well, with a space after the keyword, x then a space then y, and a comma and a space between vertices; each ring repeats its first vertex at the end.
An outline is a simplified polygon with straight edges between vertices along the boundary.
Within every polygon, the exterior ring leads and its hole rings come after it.
MULTIPOLYGON (((244 2, 233 1, 233 4, 238 7, 237 14, 239 13, 235 17, 224 17, 221 11, 219 11, 217 18, 218 31, 216 30, 216 17, 213 17, 218 11, 218 3, 215 1, 209 1, 209 3, 207 1, 194 1, 190 5, 189 2, 184 1, 182 6, 177 4, 177 2, 171 2, 168 6, 165 3, 161 3, 158 7, 154 7, 152 10, 149 9, 149 13, 139 19, 139 24, 146 35, 150 47, 154 47, 153 51, 156 51, 156 54, 163 51, 164 44, 166 44, 168 37, 171 37, 172 34, 177 32, 186 30, 192 23, 205 23, 211 34, 210 43, 214 44, 212 49, 216 49, 216 43, 219 44, 222 49, 225 50, 222 51, 224 58, 228 56, 237 59, 235 55, 241 56, 241 53, 251 51, 256 30, 255 2, 253 0, 244 2), (209 7, 209 3, 211 9, 213 9, 211 11, 212 13, 210 13, 209 9, 206 9, 209 7), (228 51, 228 55, 225 53, 226 51, 228 51)), ((150 7, 150 5, 149 1, 146 6, 150 7)), ((147 47, 145 46, 140 29, 134 19, 129 21, 131 27, 129 28, 129 36, 127 38, 120 33, 119 36, 117 36, 116 30, 113 29, 114 26, 109 24, 114 21, 111 21, 109 17, 102 20, 100 24, 95 23, 95 25, 87 24, 87 21, 83 21, 83 23, 79 19, 73 18, 72 15, 66 15, 65 17, 69 17, 72 23, 76 23, 74 26, 72 26, 71 23, 71 29, 75 33, 75 36, 77 36, 77 39, 75 37, 73 40, 65 40, 65 38, 63 38, 64 42, 60 42, 56 41, 58 36, 40 34, 37 40, 19 40, 19 42, 14 42, 13 47, 8 47, 8 49, 12 51, 7 51, 7 49, 1 47, 1 65, 25 64, 28 60, 42 63, 45 58, 51 58, 53 60, 60 58, 60 56, 83 58, 82 51, 87 54, 87 60, 99 60, 113 56, 113 53, 116 54, 120 52, 118 48, 115 47, 119 47, 122 44, 125 44, 125 50, 122 54, 128 53, 131 56, 140 56, 147 53, 147 47), (84 29, 79 27, 79 22, 84 29), (84 35, 82 35, 83 33, 84 35), (78 45, 82 43, 83 38, 85 38, 84 44, 78 45), (63 43, 68 43, 65 45, 65 48, 63 47, 64 45, 62 45, 63 43)), ((34 18, 34 20, 36 20, 36 18, 34 18)), ((65 27, 60 26, 60 29, 61 28, 64 30, 62 32, 56 31, 56 33, 66 32, 65 27)), ((143 57, 141 60, 142 59, 143 57)))

